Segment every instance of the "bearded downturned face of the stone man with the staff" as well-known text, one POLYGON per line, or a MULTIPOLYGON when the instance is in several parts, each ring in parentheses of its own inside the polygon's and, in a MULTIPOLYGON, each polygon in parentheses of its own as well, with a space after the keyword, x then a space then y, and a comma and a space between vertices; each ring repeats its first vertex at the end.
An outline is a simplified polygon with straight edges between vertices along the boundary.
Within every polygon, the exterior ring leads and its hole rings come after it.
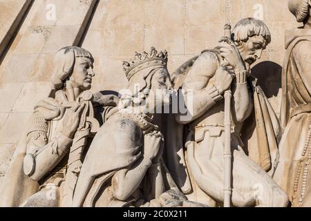
POLYGON ((238 46, 243 60, 249 65, 254 64, 257 59, 261 58, 263 50, 267 47, 267 41, 261 35, 249 37, 247 41, 243 41, 241 46, 238 46))

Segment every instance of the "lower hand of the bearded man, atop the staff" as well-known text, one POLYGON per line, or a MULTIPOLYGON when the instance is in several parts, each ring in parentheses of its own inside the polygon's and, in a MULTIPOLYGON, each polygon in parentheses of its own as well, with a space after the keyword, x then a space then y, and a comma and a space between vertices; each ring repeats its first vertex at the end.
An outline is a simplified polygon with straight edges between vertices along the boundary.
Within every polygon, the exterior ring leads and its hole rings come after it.
POLYGON ((233 70, 224 66, 218 67, 215 74, 215 86, 220 94, 223 94, 225 90, 228 90, 234 79, 233 70))

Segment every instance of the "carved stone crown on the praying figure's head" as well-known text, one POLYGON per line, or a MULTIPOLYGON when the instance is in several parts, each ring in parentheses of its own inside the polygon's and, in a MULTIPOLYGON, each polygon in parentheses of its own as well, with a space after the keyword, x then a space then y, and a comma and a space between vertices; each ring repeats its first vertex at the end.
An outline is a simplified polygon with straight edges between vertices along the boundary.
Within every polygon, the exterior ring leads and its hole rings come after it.
POLYGON ((167 68, 167 51, 158 52, 156 48, 151 47, 149 53, 135 52, 133 59, 129 61, 123 61, 123 70, 128 80, 133 77, 136 73, 140 72, 140 70, 144 70, 145 68, 167 68))

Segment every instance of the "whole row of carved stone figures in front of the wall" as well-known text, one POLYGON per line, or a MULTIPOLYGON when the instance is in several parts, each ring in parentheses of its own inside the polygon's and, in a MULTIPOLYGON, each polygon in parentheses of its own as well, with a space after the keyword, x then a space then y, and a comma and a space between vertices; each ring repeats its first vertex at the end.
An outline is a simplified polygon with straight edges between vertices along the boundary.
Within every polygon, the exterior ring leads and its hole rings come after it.
POLYGON ((303 27, 285 32, 281 120, 252 76, 271 43, 258 19, 172 75, 166 50, 135 52, 120 98, 91 93, 91 52, 60 49, 0 206, 311 206, 311 3, 288 7, 303 27), (173 96, 186 112, 157 113, 173 96))

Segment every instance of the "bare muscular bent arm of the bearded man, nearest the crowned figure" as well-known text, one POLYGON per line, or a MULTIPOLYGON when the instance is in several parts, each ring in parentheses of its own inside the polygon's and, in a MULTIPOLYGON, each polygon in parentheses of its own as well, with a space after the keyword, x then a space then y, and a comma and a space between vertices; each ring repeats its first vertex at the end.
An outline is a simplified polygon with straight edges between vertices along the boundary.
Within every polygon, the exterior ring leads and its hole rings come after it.
POLYGON ((187 118, 184 115, 176 115, 176 120, 180 124, 188 124, 200 117, 211 106, 223 97, 214 84, 209 84, 209 80, 216 73, 218 59, 212 52, 204 52, 189 71, 182 89, 185 90, 185 104, 187 106, 187 118), (188 117, 189 116, 189 117, 188 117))

